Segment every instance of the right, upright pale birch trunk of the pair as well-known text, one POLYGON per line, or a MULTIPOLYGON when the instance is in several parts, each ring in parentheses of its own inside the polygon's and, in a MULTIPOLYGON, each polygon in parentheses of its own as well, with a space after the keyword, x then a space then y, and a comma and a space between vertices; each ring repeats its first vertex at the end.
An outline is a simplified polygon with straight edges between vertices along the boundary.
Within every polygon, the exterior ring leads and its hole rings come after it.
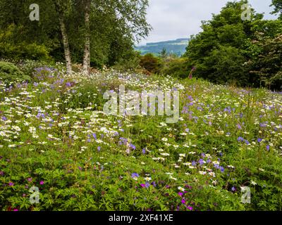
POLYGON ((89 74, 90 70, 90 8, 91 0, 85 0, 85 48, 83 56, 83 73, 89 74))

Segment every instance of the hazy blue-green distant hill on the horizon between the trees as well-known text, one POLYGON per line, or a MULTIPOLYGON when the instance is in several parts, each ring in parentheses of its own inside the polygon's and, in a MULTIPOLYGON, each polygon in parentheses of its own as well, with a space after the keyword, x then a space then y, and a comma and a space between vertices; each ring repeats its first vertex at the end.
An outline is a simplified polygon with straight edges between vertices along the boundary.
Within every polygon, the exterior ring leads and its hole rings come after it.
POLYGON ((161 41, 155 43, 147 43, 145 46, 137 46, 135 50, 140 51, 142 55, 147 53, 154 53, 159 55, 159 53, 166 49, 167 53, 175 53, 177 56, 182 56, 186 51, 186 47, 189 43, 188 38, 176 39, 174 41, 161 41))

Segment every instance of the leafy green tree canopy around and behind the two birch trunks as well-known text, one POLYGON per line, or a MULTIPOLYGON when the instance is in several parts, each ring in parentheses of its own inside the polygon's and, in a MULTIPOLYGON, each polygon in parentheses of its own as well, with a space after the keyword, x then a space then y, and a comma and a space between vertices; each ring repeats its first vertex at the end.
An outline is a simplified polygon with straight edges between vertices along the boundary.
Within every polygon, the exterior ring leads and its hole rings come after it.
MULTIPOLYGON (((27 1, 0 2, 0 57, 63 62, 64 51, 55 2, 63 8, 73 63, 82 63, 85 18, 84 1, 39 0, 40 20, 30 21, 27 1)), ((146 21, 147 0, 92 0, 90 15, 91 65, 102 68, 124 64, 133 55, 133 43, 146 37, 151 29, 146 21)))

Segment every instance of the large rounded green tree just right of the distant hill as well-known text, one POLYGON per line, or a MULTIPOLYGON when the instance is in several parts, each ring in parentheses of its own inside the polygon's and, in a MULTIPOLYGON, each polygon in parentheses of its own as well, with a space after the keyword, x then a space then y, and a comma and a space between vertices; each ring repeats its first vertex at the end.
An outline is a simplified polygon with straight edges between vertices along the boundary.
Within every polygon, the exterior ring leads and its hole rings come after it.
POLYGON ((248 22, 240 19, 242 4, 243 1, 226 4, 219 15, 203 22, 203 32, 190 40, 185 56, 190 59, 190 67, 197 68, 197 77, 219 84, 245 84, 247 75, 241 69, 245 58, 240 47, 247 38, 248 22))

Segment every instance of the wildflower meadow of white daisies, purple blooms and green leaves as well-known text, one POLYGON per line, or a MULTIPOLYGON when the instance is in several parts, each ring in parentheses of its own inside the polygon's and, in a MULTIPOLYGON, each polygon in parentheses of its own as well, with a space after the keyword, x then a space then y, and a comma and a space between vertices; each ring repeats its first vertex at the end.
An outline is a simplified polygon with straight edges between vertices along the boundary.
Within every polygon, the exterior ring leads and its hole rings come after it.
POLYGON ((281 210, 281 94, 59 71, 0 84, 1 210, 281 210), (103 94, 120 84, 178 89, 180 120, 105 115, 103 94))

